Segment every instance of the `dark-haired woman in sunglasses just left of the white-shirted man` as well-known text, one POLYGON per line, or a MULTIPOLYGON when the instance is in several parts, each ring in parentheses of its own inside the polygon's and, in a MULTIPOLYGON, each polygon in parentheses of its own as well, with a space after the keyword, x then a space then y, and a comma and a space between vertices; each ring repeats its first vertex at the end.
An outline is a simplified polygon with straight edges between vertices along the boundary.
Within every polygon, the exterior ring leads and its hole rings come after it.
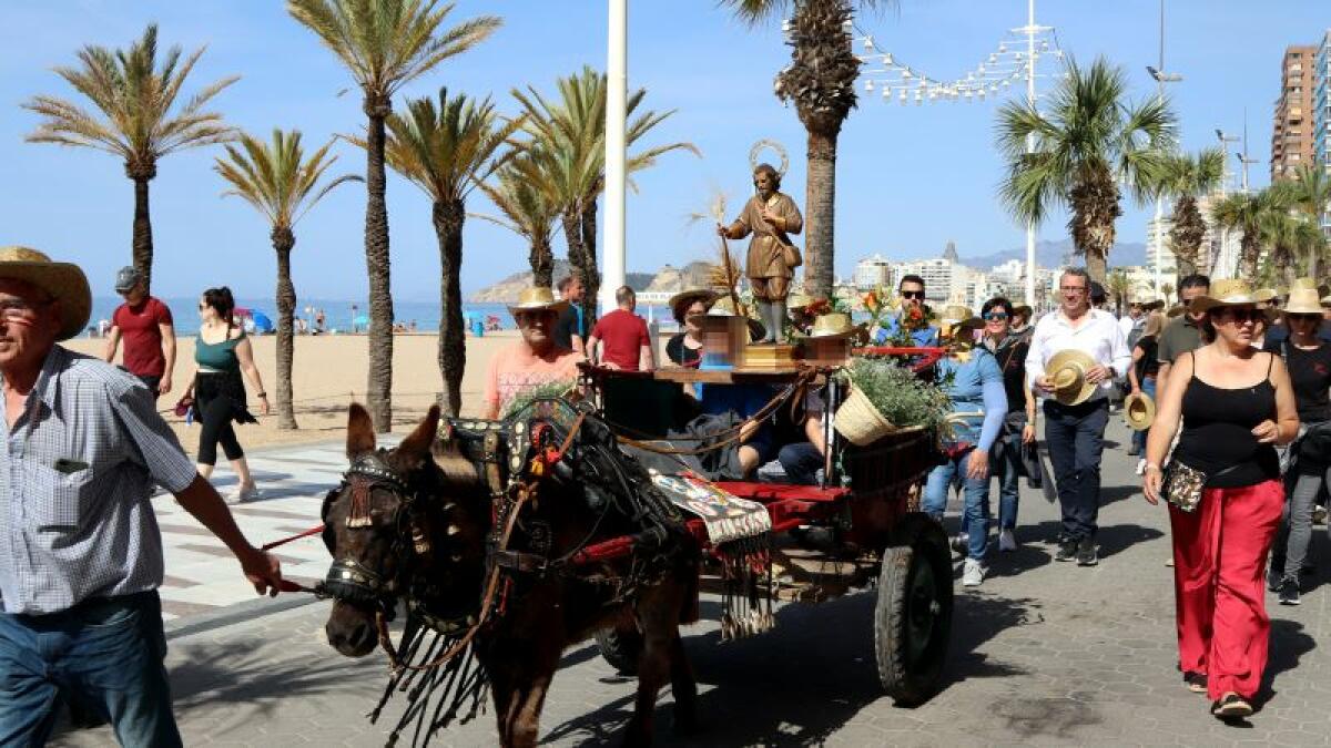
POLYGON ((1036 441, 1036 398, 1026 382, 1026 354, 1030 342, 1012 334, 1012 302, 996 297, 985 302, 980 317, 985 321, 985 347, 998 361, 1008 414, 1002 434, 994 446, 994 472, 998 475, 998 550, 1017 550, 1017 504, 1021 495, 1022 445, 1036 441))

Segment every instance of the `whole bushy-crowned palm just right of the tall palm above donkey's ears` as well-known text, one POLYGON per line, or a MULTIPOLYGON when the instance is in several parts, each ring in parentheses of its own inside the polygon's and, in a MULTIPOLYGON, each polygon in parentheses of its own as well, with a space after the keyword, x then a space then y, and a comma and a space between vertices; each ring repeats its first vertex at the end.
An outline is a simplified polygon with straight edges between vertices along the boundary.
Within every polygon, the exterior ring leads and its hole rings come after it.
MULTIPOLYGON (((523 120, 503 121, 490 98, 471 101, 466 94, 449 97, 439 89, 433 98, 407 100, 406 114, 387 118, 385 153, 393 170, 421 188, 434 204, 434 232, 439 241, 439 374, 443 397, 439 405, 457 415, 462 409, 462 373, 467 345, 462 322, 462 224, 466 200, 490 178, 515 150, 500 153, 523 120)), ((351 138, 362 148, 369 144, 351 138)))

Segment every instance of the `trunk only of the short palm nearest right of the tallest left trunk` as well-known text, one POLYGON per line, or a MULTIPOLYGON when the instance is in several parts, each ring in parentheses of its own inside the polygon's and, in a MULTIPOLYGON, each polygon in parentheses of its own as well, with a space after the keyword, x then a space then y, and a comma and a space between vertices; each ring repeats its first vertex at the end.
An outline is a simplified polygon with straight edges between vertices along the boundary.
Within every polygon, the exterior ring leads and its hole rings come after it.
POLYGON ((439 374, 443 394, 439 406, 450 415, 462 410, 462 374, 467 367, 467 341, 462 326, 462 222, 461 200, 437 201, 431 212, 439 240, 439 374))

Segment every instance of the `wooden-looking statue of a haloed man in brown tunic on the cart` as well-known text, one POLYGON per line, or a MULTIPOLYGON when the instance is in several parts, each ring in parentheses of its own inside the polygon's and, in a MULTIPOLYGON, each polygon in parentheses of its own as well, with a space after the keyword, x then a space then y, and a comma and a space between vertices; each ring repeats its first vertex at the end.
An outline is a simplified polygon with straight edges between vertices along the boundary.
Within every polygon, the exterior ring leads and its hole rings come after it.
MULTIPOLYGON (((716 233, 731 240, 753 234, 744 274, 767 327, 767 338, 761 342, 785 342, 785 295, 797 265, 788 262, 787 248, 793 250, 788 234, 804 229, 804 217, 791 196, 780 192, 781 176, 769 164, 759 164, 753 169, 753 186, 757 194, 744 204, 739 218, 729 226, 717 225, 716 233)), ((792 254, 797 256, 797 250, 792 254)))

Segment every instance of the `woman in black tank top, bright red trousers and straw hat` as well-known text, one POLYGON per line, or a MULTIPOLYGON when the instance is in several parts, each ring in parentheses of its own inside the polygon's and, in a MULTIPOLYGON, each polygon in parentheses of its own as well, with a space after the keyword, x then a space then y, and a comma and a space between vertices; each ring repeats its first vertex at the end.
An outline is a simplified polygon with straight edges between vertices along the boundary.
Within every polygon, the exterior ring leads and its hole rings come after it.
POLYGON ((1284 503, 1275 446, 1294 439, 1299 417, 1284 362, 1252 347, 1264 311, 1246 281, 1217 281, 1190 311, 1205 314, 1207 345, 1170 371, 1146 442, 1142 492, 1153 504, 1170 502, 1183 681, 1207 693, 1213 715, 1235 719, 1252 713, 1266 669, 1262 570, 1284 503), (1179 475, 1166 494, 1162 465, 1181 418, 1169 466, 1179 475))

